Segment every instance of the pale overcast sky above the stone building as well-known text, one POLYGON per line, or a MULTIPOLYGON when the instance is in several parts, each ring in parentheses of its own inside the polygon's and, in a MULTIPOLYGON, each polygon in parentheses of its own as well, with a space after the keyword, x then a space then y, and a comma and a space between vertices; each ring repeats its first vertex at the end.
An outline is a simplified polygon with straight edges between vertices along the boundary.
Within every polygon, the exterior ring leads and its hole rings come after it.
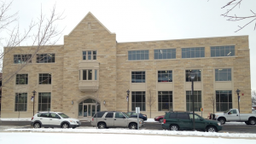
MULTIPOLYGON (((88 12, 96 16, 110 32, 116 33, 118 42, 183 39, 195 37, 249 36, 251 55, 251 88, 256 90, 256 31, 255 24, 240 32, 238 25, 247 21, 230 22, 220 14, 231 0, 14 0, 9 13, 19 12, 20 28, 36 20, 41 7, 45 15, 56 5, 57 13, 64 12, 59 29, 67 35, 88 12)), ((9 2, 9 0, 7 0, 9 2)), ((256 13, 256 1, 247 0, 236 9, 236 15, 256 13)), ((29 43, 28 43, 29 44, 29 43)), ((63 44, 61 37, 58 44, 63 44)), ((236 89, 236 88, 235 88, 236 89)), ((242 91, 242 89, 241 89, 242 91)))

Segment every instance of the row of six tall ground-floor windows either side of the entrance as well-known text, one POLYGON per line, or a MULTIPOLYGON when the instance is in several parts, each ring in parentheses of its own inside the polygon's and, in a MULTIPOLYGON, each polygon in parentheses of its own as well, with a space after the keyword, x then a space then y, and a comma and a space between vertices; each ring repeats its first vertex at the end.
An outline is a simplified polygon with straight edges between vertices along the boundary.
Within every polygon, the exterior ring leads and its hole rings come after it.
MULTIPOLYGON (((135 111, 136 107, 140 107, 141 111, 146 111, 146 96, 145 91, 131 92, 131 111, 135 111)), ((195 112, 200 112, 202 104, 202 96, 200 90, 194 91, 194 96, 191 91, 186 91, 186 111, 193 111, 192 101, 194 99, 195 112)), ((224 112, 232 108, 232 91, 217 90, 215 95, 217 112, 224 112)), ((173 96, 172 91, 158 92, 158 111, 173 111, 173 96)), ((51 93, 38 93, 38 111, 50 111, 51 93)), ((26 111, 27 93, 17 93, 15 95, 15 112, 26 111)))

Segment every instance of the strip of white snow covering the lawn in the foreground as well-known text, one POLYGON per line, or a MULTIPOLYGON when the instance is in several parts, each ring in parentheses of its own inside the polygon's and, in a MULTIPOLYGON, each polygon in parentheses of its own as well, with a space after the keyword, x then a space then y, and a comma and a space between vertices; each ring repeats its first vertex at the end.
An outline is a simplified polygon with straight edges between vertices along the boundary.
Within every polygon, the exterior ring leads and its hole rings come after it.
POLYGON ((0 133, 3 144, 46 144, 46 143, 104 143, 104 144, 131 144, 131 143, 178 143, 178 144, 255 144, 254 139, 236 138, 207 138, 196 136, 166 136, 166 135, 124 135, 124 134, 73 134, 73 133, 0 133))

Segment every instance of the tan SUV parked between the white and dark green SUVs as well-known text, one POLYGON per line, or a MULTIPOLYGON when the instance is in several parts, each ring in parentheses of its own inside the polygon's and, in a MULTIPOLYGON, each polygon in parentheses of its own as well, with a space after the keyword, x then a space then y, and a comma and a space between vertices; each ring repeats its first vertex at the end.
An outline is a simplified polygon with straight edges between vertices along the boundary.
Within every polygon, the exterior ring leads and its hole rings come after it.
MULTIPOLYGON (((97 126, 99 129, 106 128, 130 128, 137 130, 137 119, 130 118, 125 112, 104 111, 96 112, 90 122, 91 126, 97 126)), ((139 127, 144 125, 143 119, 139 120, 139 127)))

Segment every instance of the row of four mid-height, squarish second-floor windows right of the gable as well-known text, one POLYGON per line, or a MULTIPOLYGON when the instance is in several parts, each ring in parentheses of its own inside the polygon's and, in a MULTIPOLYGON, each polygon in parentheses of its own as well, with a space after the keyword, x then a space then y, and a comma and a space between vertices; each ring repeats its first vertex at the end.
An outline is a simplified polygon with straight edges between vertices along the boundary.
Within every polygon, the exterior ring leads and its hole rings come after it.
MULTIPOLYGON (((186 70, 186 82, 190 82, 190 73, 195 72, 196 76, 194 81, 201 81, 201 70, 186 70)), ((215 81, 231 81, 231 69, 215 69, 215 81)), ((172 71, 158 71, 158 82, 172 82, 172 71)), ((146 73, 131 72, 131 83, 146 83, 146 73)))

